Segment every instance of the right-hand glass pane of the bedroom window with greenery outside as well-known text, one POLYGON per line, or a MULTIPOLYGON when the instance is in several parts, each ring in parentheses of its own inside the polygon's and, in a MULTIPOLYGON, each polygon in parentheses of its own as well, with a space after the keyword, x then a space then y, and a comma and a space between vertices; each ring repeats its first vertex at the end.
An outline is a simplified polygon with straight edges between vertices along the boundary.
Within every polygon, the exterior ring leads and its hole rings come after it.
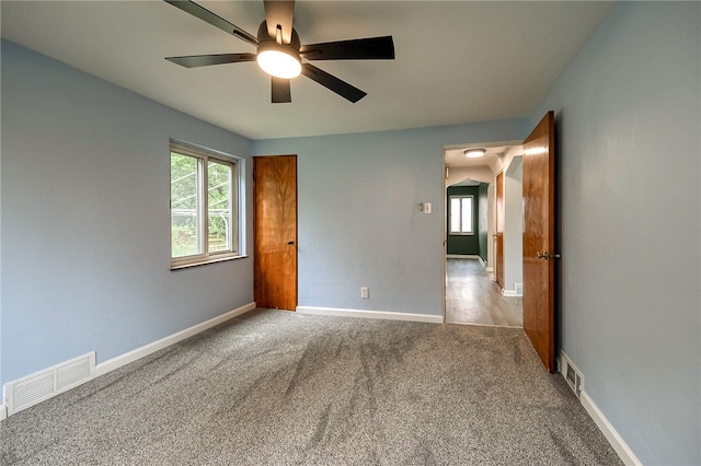
POLYGON ((209 252, 231 251, 231 167, 209 162, 207 167, 209 252))

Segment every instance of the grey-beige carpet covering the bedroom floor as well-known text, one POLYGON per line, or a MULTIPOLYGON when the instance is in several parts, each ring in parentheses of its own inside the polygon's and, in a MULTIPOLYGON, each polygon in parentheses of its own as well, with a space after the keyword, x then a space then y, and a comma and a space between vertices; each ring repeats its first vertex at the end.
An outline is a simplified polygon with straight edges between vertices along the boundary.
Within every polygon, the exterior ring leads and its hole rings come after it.
POLYGON ((256 310, 0 423, 2 465, 614 465, 521 329, 256 310))

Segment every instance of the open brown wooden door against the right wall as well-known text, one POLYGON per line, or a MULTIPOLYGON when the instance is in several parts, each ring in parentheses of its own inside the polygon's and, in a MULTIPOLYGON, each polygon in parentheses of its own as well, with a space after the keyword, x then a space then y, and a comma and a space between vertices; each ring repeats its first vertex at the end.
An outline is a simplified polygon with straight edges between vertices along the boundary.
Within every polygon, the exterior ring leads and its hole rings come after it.
POLYGON ((555 144, 548 112, 524 141, 524 330, 555 371, 555 144))

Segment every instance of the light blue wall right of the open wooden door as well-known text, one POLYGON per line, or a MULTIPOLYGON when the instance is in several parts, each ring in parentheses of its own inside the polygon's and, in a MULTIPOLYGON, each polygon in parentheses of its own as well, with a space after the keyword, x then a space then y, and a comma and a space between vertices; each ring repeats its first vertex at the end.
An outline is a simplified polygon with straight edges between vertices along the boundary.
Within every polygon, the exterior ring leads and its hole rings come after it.
POLYGON ((700 464, 701 3, 621 2, 533 114, 562 166, 562 346, 644 464, 700 464))

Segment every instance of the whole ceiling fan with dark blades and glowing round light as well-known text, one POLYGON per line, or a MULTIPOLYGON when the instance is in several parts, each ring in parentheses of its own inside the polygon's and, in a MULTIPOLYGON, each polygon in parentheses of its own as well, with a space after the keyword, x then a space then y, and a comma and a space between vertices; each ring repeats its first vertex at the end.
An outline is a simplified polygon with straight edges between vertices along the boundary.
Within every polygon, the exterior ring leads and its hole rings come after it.
POLYGON ((367 95, 366 92, 308 63, 307 60, 394 59, 392 36, 301 45, 297 31, 292 27, 294 0, 265 0, 265 21, 261 23, 257 36, 246 33, 193 1, 164 1, 257 48, 255 54, 191 55, 166 57, 166 60, 186 68, 257 61, 258 66, 271 74, 272 102, 274 104, 292 101, 290 79, 300 73, 353 103, 367 95))

